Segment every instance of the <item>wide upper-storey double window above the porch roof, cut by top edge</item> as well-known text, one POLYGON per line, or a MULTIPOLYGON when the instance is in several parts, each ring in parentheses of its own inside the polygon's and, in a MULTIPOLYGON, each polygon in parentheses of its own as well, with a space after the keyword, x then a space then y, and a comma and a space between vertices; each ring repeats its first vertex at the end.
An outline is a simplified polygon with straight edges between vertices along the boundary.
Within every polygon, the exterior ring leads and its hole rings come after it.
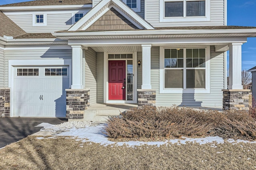
POLYGON ((210 21, 210 0, 160 0, 160 21, 210 21))

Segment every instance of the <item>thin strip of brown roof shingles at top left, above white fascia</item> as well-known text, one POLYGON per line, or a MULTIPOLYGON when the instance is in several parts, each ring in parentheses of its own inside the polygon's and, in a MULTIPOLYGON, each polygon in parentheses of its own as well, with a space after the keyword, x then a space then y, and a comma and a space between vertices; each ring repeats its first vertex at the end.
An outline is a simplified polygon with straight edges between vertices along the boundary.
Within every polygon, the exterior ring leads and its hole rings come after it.
POLYGON ((14 4, 0 5, 0 7, 9 6, 49 6, 49 5, 84 5, 92 4, 92 0, 34 0, 14 4))

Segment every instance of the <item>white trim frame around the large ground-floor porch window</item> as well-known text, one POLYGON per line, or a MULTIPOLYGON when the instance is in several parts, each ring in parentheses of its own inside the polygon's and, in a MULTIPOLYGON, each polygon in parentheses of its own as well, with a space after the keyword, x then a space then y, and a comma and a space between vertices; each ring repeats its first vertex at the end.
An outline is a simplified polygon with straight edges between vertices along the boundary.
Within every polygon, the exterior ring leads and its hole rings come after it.
MULTIPOLYGON (((186 46, 186 47, 170 47, 170 46, 161 46, 160 47, 160 62, 159 62, 159 68, 160 68, 160 77, 159 77, 159 93, 160 94, 210 94, 210 46, 186 46), (184 89, 184 88, 164 88, 164 49, 190 49, 190 48, 205 48, 206 49, 206 63, 205 63, 205 89, 202 88, 194 88, 194 89, 184 89)), ((184 61, 186 61, 186 56, 184 56, 184 61)), ((183 68, 174 68, 174 69, 184 69, 183 68)), ((195 68, 198 69, 198 68, 195 68)), ((186 71, 183 71, 183 84, 186 84, 186 71)))

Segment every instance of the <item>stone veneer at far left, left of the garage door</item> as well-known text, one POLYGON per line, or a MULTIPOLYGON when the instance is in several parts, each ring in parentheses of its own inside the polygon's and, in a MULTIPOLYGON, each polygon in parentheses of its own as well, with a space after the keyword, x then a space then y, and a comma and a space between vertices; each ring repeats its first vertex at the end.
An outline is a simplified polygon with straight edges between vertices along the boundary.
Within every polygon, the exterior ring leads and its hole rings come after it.
POLYGON ((0 88, 0 117, 10 117, 10 88, 0 88))

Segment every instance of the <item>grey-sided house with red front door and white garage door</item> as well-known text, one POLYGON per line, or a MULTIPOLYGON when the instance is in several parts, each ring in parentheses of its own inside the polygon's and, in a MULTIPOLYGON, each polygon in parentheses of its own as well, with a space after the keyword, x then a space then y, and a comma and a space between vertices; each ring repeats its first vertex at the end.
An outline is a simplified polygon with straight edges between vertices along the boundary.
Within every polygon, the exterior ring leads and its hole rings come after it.
POLYGON ((256 27, 227 26, 226 8, 226 0, 2 5, 1 115, 82 119, 96 103, 244 109, 247 99, 230 104, 230 91, 248 95, 241 48, 256 27))

